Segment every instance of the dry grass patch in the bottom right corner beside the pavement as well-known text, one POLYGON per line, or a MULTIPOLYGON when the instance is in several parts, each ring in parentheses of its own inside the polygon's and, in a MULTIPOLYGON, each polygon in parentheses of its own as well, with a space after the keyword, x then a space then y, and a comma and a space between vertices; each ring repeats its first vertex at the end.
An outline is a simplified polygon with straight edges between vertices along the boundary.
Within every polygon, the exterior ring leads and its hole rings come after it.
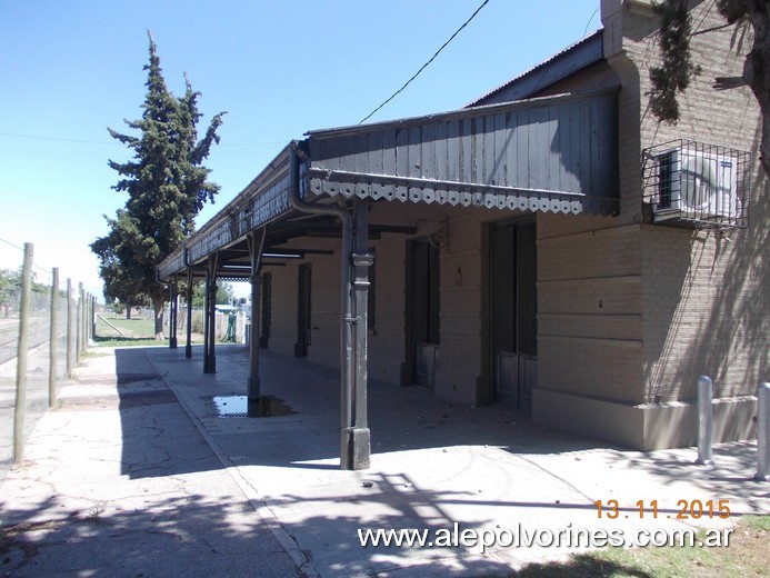
MULTIPOLYGON (((699 532, 702 539, 704 531, 699 532)), ((511 577, 522 578, 720 578, 767 576, 770 567, 770 516, 746 516, 736 524, 728 547, 606 548, 566 562, 532 564, 511 577)))

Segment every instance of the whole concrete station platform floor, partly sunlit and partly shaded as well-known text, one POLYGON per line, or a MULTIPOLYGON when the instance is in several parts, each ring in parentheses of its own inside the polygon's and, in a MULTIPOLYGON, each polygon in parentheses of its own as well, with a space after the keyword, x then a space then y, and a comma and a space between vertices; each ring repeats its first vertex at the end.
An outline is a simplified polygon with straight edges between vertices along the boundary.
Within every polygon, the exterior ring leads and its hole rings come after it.
POLYGON ((200 349, 192 360, 183 349, 92 351, 0 488, 12 537, 0 572, 504 576, 580 551, 566 546, 572 531, 628 539, 770 514, 770 485, 752 479, 754 442, 716 447, 704 468, 693 449, 612 448, 501 407, 449 407, 421 388, 373 382, 372 467, 341 471, 336 371, 263 350, 263 392, 290 412, 221 417, 240 409, 243 347, 218 347, 216 375, 202 373, 200 349), (677 520, 682 500, 707 512, 677 520), (727 500, 730 518, 709 517, 710 500, 714 510, 727 500), (367 529, 430 529, 431 540, 467 530, 503 544, 467 534, 464 546, 362 547, 367 529), (542 539, 523 546, 532 532, 542 539), (549 546, 559 532, 562 547, 549 546), (507 546, 514 535, 519 547, 507 546))

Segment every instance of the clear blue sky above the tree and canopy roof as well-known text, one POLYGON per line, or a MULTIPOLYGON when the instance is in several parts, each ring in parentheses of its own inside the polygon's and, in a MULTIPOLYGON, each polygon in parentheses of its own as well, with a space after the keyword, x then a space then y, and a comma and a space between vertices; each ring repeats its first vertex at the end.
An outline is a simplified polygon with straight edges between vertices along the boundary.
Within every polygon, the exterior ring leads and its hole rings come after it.
MULTIPOLYGON (((206 166, 221 186, 202 225, 291 139, 356 124, 399 89, 482 0, 0 0, 0 268, 34 243, 101 297, 89 243, 126 197, 107 127, 141 116, 151 30, 166 81, 202 93, 201 131, 228 111, 206 166)), ((598 29, 599 0, 489 0, 370 121, 461 108, 598 29)))

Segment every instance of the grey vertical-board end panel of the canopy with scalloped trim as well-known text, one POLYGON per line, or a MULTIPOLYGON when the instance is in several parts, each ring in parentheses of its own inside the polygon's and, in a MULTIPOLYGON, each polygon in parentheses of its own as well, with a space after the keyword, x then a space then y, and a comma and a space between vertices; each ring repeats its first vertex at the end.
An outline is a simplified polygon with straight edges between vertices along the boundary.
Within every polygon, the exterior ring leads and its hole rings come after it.
MULTIPOLYGON (((557 97, 311 132, 309 191, 452 205, 479 205, 463 202, 463 192, 477 198, 523 191, 540 198, 552 192, 562 200, 617 199, 614 100, 614 92, 557 97), (391 186, 383 188, 387 183, 391 186), (428 193, 416 193, 417 188, 428 193)), ((489 197, 482 201, 516 208, 489 197)), ((582 212, 574 205, 568 210, 582 212)))

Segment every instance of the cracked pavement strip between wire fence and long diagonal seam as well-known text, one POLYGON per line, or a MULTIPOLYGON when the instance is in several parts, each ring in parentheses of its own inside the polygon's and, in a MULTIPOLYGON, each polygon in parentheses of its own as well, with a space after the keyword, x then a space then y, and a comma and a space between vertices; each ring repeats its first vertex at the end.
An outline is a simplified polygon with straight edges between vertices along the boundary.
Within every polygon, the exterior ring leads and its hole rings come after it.
POLYGON ((120 365, 93 350, 7 475, 0 575, 300 575, 144 353, 120 365))

